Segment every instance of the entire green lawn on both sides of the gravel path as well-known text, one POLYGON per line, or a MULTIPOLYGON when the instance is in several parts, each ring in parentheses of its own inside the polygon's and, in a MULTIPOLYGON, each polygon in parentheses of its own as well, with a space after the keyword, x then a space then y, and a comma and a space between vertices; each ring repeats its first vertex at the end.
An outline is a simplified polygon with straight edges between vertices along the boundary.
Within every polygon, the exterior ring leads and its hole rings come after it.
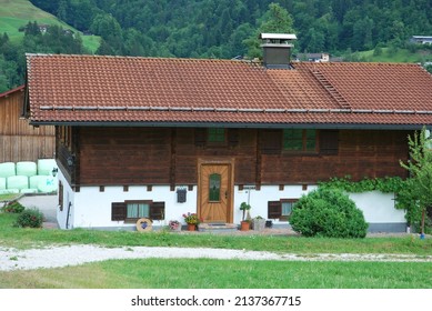
MULTIPOLYGON (((287 235, 219 235, 168 231, 20 229, 17 214, 0 213, 0 245, 50 244, 104 247, 189 247, 287 253, 432 254, 432 239, 418 237, 324 239, 287 235)), ((12 260, 12 259, 11 259, 12 260)), ((0 272, 0 288, 152 288, 152 289, 425 289, 432 288, 432 263, 300 262, 213 259, 110 260, 79 267, 0 272), (192 279, 185 275, 193 275, 192 279)))

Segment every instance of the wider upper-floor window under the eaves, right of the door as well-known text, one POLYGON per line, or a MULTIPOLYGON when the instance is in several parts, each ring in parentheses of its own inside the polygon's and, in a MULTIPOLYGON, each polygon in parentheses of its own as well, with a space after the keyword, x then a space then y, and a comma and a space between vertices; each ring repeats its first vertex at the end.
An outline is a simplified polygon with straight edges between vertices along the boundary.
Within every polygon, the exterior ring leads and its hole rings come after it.
POLYGON ((315 130, 283 130, 283 150, 293 152, 315 152, 317 131, 315 130))

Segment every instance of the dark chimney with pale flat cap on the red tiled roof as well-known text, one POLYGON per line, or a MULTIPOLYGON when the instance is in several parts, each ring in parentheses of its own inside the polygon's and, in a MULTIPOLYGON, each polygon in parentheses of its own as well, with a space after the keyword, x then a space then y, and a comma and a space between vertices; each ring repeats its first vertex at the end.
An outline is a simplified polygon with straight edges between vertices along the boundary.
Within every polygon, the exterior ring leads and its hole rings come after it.
POLYGON ((292 40, 291 33, 261 33, 264 66, 269 69, 291 69, 290 58, 292 40))

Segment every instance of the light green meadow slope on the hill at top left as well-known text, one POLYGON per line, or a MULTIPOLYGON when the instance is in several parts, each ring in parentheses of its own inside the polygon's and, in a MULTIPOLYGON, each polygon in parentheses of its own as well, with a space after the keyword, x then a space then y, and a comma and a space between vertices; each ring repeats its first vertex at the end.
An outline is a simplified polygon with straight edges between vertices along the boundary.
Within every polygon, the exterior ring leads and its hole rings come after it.
MULTIPOLYGON (((40 10, 28 0, 0 0, 0 33, 8 33, 12 42, 20 40, 23 32, 20 32, 19 28, 26 26, 29 21, 58 24, 78 32, 77 29, 40 10)), ((100 37, 82 36, 82 41, 89 51, 94 52, 99 48, 100 37)))

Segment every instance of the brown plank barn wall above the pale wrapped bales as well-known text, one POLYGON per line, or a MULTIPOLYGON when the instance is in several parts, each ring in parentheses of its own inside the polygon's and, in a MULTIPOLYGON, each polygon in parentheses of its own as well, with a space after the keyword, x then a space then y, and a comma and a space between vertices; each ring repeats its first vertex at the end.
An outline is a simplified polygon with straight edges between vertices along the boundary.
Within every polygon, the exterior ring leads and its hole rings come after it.
POLYGON ((0 94, 0 162, 54 157, 54 127, 34 128, 21 118, 23 87, 0 94))

